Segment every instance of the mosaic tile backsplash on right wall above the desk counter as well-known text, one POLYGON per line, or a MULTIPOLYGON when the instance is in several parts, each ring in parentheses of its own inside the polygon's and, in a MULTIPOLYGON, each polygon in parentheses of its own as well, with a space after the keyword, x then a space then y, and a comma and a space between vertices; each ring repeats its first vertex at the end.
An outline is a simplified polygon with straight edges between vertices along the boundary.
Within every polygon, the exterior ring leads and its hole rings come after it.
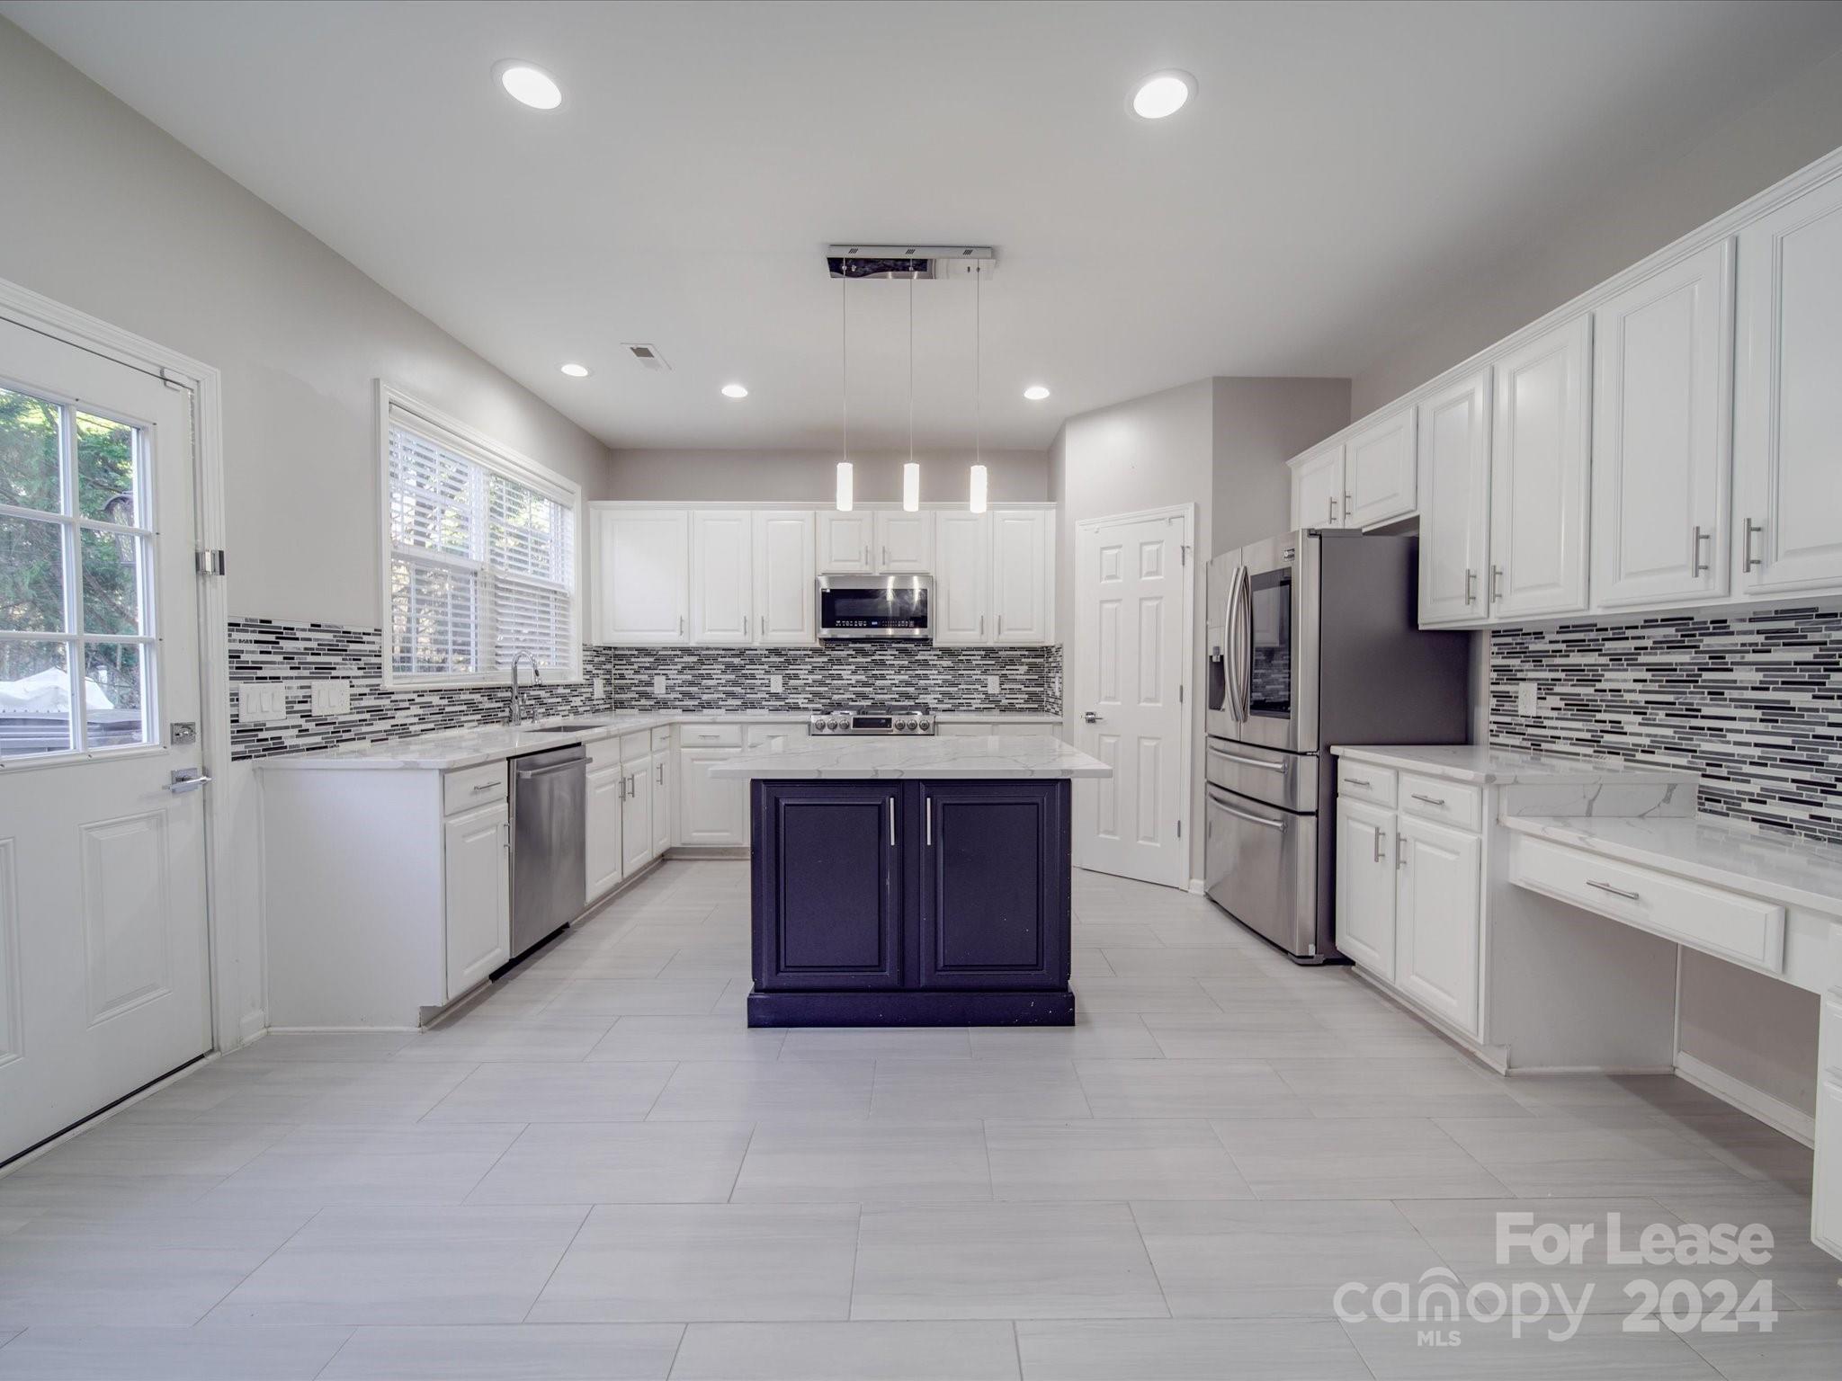
POLYGON ((1842 843, 1842 611, 1498 628, 1490 742, 1687 768, 1708 814, 1842 843))

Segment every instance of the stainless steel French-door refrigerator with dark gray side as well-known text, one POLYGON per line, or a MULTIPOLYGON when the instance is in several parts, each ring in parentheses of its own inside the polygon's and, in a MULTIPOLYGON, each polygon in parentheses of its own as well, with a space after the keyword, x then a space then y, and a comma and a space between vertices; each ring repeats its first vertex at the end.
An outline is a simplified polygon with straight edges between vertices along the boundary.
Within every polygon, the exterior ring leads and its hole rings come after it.
POLYGON ((1299 963, 1335 946, 1332 744, 1463 744, 1470 633, 1422 632, 1418 538, 1302 528, 1208 563, 1208 897, 1299 963))

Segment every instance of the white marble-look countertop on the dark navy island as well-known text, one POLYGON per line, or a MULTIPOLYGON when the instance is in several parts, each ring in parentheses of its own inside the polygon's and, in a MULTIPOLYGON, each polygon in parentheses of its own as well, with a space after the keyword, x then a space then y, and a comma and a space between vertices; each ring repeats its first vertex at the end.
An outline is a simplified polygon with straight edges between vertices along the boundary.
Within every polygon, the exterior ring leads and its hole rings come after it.
POLYGON ((1044 735, 787 738, 713 762, 711 777, 1111 777, 1113 768, 1044 735))

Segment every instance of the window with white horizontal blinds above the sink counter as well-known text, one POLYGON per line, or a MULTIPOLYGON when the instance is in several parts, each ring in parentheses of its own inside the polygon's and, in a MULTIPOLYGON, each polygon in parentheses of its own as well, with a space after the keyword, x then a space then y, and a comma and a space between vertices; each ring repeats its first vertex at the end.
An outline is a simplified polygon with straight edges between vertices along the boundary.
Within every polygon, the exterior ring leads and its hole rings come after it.
POLYGON ((578 492, 385 390, 385 683, 580 679, 578 492))

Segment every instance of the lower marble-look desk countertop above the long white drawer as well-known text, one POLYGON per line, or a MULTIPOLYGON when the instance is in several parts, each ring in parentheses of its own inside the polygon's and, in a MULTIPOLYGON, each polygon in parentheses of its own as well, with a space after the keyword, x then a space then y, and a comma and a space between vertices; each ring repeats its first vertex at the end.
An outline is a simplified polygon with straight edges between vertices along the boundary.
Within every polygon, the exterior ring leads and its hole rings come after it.
POLYGON ((1676 819, 1505 816, 1503 829, 1842 917, 1842 847, 1763 834, 1720 816, 1676 819))

